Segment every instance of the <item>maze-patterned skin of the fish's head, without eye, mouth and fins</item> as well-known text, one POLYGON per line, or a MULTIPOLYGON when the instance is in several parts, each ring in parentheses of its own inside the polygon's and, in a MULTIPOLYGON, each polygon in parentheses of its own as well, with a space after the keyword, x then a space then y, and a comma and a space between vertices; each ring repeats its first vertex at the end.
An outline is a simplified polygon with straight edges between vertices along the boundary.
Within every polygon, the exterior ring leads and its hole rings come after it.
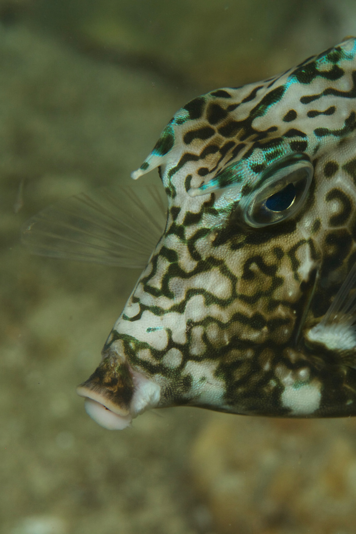
POLYGON ((160 166, 168 221, 104 352, 122 342, 130 365, 161 384, 161 406, 356 413, 347 351, 306 334, 356 261, 355 50, 351 40, 281 76, 195 98, 141 166, 160 166), (249 226, 240 203, 288 159, 313 166, 303 206, 249 226))

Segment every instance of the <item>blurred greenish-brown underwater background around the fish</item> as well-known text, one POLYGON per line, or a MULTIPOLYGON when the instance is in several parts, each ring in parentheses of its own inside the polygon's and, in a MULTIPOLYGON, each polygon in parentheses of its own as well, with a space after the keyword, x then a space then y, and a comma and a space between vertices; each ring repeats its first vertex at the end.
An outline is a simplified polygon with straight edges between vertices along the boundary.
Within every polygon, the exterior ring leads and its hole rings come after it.
POLYGON ((128 183, 188 100, 355 28, 354 0, 0 0, 0 533, 355 532, 355 419, 94 423, 75 388, 139 271, 30 256, 19 238, 50 203, 128 183))

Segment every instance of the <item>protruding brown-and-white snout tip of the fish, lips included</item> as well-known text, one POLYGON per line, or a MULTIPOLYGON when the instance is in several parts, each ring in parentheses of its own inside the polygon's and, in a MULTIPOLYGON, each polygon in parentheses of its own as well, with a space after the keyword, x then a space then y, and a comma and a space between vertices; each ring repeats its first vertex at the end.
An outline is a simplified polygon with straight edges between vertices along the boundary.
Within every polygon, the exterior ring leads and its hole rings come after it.
POLYGON ((123 430, 133 418, 159 404, 161 388, 126 361, 108 356, 88 380, 77 387, 85 411, 108 430, 123 430))

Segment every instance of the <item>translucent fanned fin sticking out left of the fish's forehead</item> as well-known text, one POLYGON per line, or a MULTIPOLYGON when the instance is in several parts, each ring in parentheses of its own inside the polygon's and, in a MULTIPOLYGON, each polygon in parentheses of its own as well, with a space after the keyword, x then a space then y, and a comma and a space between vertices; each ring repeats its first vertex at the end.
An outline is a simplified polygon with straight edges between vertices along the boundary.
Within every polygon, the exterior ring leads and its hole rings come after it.
POLYGON ((103 188, 45 208, 23 225, 21 241, 34 254, 143 269, 166 217, 162 186, 103 188))

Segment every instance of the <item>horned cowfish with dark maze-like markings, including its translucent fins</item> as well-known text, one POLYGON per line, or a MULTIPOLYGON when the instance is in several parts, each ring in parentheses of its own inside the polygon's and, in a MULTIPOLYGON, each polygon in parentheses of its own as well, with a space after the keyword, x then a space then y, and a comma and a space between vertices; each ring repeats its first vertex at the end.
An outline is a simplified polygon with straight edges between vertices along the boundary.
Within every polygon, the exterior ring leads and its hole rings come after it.
POLYGON ((133 183, 23 232, 39 253, 146 264, 77 389, 89 415, 356 415, 356 40, 190 101, 132 178, 157 167, 166 212, 133 183))

